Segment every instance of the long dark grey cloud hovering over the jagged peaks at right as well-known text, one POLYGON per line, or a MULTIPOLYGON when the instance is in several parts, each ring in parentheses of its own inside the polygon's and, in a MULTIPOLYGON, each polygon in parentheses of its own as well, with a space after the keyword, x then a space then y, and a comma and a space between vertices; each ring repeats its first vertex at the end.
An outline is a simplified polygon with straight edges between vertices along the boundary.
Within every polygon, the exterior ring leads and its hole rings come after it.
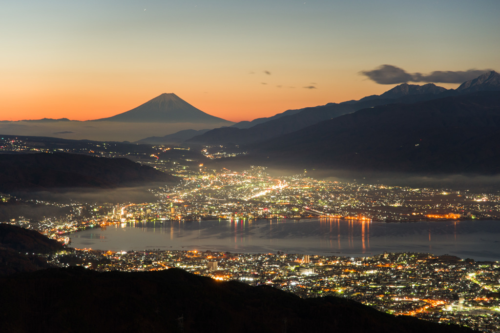
POLYGON ((463 83, 490 71, 491 69, 469 69, 458 71, 436 70, 430 74, 408 73, 404 69, 393 65, 380 65, 373 70, 362 70, 359 73, 367 76, 378 84, 398 84, 404 82, 435 82, 435 83, 463 83))

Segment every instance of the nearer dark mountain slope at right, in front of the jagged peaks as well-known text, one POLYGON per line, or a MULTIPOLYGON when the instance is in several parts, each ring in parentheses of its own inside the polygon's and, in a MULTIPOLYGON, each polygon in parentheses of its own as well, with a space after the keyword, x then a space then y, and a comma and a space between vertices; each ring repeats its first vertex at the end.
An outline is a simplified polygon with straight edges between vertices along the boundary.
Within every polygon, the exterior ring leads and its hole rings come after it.
POLYGON ((500 94, 362 109, 255 144, 250 158, 296 167, 500 173, 500 94))

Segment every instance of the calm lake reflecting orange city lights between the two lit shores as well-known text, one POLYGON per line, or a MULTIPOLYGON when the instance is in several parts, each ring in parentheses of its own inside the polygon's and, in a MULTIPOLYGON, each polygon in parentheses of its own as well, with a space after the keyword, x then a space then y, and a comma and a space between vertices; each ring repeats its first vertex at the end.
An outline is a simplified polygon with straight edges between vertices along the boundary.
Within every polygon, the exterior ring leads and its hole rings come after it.
POLYGON ((73 233, 71 247, 92 250, 217 250, 370 256, 450 254, 500 261, 500 221, 359 222, 332 219, 165 221, 73 233))

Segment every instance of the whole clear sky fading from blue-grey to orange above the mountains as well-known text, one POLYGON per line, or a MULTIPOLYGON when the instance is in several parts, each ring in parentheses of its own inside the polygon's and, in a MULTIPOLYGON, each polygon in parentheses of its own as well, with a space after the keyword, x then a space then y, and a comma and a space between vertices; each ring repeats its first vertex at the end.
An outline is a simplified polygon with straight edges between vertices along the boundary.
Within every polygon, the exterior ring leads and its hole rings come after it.
POLYGON ((498 17, 498 0, 6 1, 0 120, 108 117, 163 92, 251 120, 380 94, 395 84, 360 72, 383 64, 499 71, 498 17))

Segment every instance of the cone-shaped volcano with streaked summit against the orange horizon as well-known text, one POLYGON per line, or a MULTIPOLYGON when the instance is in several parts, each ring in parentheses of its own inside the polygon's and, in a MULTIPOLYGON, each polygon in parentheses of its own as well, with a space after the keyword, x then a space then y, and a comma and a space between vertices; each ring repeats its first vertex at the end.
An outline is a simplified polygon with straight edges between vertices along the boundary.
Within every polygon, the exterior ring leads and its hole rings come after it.
POLYGON ((187 122, 217 124, 218 126, 233 124, 195 108, 173 93, 163 93, 129 111, 91 121, 187 122))

